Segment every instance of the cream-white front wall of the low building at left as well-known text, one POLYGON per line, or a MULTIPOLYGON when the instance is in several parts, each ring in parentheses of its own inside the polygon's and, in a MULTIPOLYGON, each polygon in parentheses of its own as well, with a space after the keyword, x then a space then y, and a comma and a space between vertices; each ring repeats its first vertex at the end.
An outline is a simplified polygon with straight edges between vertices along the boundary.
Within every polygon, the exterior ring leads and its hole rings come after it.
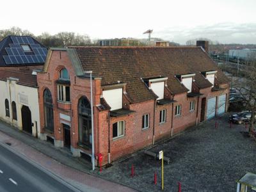
POLYGON ((16 81, 0 81, 0 118, 5 122, 12 124, 22 130, 22 116, 21 108, 23 105, 28 106, 31 111, 31 122, 34 124, 32 127, 32 134, 40 137, 40 116, 38 104, 38 90, 29 86, 16 84, 16 81), (9 101, 10 117, 5 116, 5 99, 9 101), (12 101, 15 101, 17 108, 17 121, 12 118, 12 101), (36 131, 37 122, 37 131, 36 131))

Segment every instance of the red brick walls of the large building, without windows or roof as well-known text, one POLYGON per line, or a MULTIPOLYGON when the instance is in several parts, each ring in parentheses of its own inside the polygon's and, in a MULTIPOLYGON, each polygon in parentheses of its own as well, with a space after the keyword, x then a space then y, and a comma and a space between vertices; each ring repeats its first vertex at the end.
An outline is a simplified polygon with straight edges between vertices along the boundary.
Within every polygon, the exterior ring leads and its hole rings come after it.
MULTIPOLYGON (((83 148, 77 145, 79 141, 78 131, 78 101, 81 97, 86 97, 90 100, 90 79, 76 76, 75 68, 68 58, 67 51, 52 51, 49 63, 45 63, 47 70, 38 73, 38 92, 40 105, 40 124, 41 132, 47 136, 51 136, 56 141, 63 141, 63 122, 70 124, 71 147, 81 150, 86 154, 91 154, 88 148, 83 148), (66 68, 70 75, 70 103, 61 103, 57 101, 57 84, 59 72, 66 68), (45 88, 48 88, 52 94, 54 104, 54 133, 45 131, 44 123, 44 99, 43 94, 45 88), (60 119, 60 113, 70 116, 70 122, 60 119)), ((193 90, 199 89, 193 83, 193 90)), ((225 89, 212 92, 211 88, 200 89, 200 97, 188 97, 187 93, 179 93, 171 95, 168 90, 164 90, 164 97, 171 98, 175 102, 159 105, 155 100, 147 100, 144 102, 131 103, 123 95, 124 108, 135 111, 124 116, 109 116, 108 110, 100 110, 100 95, 102 95, 102 87, 100 79, 93 80, 93 117, 94 117, 94 140, 95 154, 103 155, 104 164, 108 163, 108 154, 111 161, 119 157, 131 154, 132 152, 152 145, 154 141, 168 138, 173 134, 177 134, 184 129, 196 125, 200 122, 202 98, 218 97, 222 94, 228 94, 228 85, 225 89), (195 101, 195 110, 189 111, 189 103, 195 101), (175 115, 175 106, 181 105, 181 115, 175 115), (159 113, 162 109, 166 109, 166 122, 159 122, 159 113), (142 129, 142 116, 149 114, 149 127, 142 129), (113 139, 113 124, 118 121, 125 122, 125 136, 113 139)), ((217 99, 218 100, 218 99, 217 99)), ((227 104, 226 104, 227 105, 227 104)), ((205 106, 205 113, 206 113, 205 106)), ((226 107, 227 110, 227 107, 226 107)), ((205 114, 204 114, 205 116, 205 114)), ((206 120, 206 117, 205 117, 206 120)))

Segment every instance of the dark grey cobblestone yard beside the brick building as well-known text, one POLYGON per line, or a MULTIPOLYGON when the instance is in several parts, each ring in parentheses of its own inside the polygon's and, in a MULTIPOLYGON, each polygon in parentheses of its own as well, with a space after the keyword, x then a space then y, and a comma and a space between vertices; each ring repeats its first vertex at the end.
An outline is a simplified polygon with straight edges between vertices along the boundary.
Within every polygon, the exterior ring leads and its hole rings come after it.
MULTIPOLYGON (((256 173, 256 143, 245 131, 245 125, 233 124, 230 129, 225 115, 150 148, 152 152, 163 150, 171 159, 170 164, 164 163, 164 191, 177 191, 177 182, 182 191, 236 191, 236 179, 246 172, 256 173)), ((114 163, 99 175, 138 191, 161 191, 161 161, 143 151, 114 163), (135 177, 130 176, 132 164, 135 177)))

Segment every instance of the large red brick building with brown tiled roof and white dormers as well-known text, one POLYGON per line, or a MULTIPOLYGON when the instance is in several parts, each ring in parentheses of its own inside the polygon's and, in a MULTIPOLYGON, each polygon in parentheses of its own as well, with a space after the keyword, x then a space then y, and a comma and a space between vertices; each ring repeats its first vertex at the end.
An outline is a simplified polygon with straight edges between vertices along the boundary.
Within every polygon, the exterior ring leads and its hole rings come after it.
POLYGON ((104 164, 227 110, 228 79, 202 47, 51 49, 38 73, 41 134, 104 164))

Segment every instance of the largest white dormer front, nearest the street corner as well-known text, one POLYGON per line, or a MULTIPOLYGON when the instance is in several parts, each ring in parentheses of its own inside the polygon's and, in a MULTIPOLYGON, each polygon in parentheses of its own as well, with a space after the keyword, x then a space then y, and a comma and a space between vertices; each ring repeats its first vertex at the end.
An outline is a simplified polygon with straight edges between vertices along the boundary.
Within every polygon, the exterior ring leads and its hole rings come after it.
POLYGON ((103 86, 102 97, 106 100, 110 111, 123 108, 123 84, 103 86))

